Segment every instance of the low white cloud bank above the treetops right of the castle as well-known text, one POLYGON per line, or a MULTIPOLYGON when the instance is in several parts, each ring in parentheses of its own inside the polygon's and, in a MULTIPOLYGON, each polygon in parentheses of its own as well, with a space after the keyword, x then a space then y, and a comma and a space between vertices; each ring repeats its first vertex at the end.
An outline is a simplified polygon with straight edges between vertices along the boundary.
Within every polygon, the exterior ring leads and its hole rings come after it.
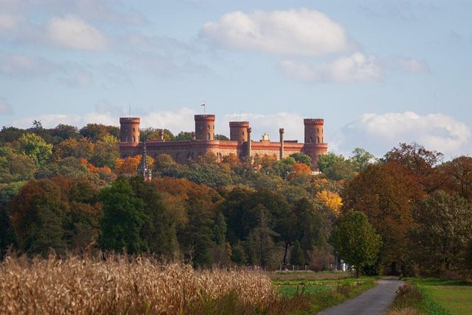
POLYGON ((446 156, 471 153, 471 128, 445 114, 366 113, 342 129, 341 149, 363 147, 383 155, 399 143, 417 142, 446 156))

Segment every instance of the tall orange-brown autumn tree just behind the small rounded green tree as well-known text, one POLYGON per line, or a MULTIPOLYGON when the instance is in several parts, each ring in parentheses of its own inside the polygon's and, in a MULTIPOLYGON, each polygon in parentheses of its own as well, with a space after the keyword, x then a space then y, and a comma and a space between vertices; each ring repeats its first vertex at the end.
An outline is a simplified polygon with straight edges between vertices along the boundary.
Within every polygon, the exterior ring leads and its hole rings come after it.
POLYGON ((417 178, 395 163, 368 166, 350 181, 343 191, 343 212, 365 213, 377 233, 382 235, 380 261, 397 271, 407 260, 412 227, 412 208, 423 196, 417 178))

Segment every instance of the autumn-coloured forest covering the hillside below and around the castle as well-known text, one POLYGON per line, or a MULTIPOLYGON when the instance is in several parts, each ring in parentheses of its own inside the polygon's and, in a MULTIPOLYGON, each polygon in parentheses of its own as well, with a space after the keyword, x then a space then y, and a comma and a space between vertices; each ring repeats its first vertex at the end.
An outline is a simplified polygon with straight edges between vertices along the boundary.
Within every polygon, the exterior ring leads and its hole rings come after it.
MULTIPOLYGON (((165 138, 187 139, 189 132, 165 138)), ((377 159, 330 152, 213 154, 177 164, 119 157, 119 129, 59 124, 0 131, 0 254, 145 253, 194 267, 282 265, 365 274, 472 271, 472 157, 399 144, 377 159)), ((143 129, 142 139, 159 137, 143 129)), ((224 136, 219 136, 224 139, 224 136)))

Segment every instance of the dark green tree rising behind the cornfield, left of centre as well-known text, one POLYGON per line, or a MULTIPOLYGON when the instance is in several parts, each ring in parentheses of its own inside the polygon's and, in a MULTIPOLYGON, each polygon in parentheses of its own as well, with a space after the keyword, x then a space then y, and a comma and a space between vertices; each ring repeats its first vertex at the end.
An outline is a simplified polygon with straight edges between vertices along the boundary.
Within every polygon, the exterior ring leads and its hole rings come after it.
POLYGON ((102 234, 98 239, 100 247, 129 253, 146 250, 146 242, 140 235, 147 219, 144 202, 136 197, 127 179, 118 178, 112 186, 103 188, 99 199, 103 205, 102 234))

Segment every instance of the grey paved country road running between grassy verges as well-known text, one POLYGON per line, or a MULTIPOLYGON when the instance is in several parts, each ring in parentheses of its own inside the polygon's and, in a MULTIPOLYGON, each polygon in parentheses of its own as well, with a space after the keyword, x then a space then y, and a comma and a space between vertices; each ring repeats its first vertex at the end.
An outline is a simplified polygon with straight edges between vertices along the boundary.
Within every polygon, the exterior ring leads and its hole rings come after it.
POLYGON ((320 315, 380 315, 385 314, 403 284, 396 278, 384 278, 378 285, 342 304, 321 311, 320 315))

